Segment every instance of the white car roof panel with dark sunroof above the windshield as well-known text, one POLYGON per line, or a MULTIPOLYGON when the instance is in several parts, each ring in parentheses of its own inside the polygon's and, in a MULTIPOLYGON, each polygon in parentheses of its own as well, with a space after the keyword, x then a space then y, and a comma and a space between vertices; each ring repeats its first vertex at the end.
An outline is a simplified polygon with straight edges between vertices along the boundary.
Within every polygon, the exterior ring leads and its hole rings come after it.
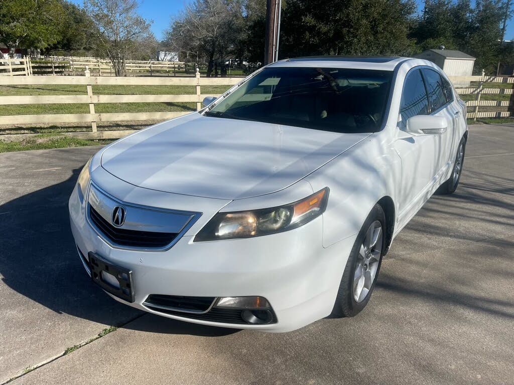
POLYGON ((307 56, 274 62, 269 67, 361 68, 393 71, 409 57, 399 56, 307 56))

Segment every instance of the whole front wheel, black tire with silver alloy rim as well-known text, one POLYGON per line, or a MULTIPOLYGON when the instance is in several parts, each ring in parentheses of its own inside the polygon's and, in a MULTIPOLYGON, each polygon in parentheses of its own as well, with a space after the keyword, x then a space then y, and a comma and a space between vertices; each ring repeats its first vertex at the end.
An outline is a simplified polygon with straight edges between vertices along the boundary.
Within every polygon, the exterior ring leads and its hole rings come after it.
POLYGON ((334 305, 334 316, 356 316, 368 304, 385 249, 385 223, 386 216, 377 204, 366 218, 346 262, 334 305))

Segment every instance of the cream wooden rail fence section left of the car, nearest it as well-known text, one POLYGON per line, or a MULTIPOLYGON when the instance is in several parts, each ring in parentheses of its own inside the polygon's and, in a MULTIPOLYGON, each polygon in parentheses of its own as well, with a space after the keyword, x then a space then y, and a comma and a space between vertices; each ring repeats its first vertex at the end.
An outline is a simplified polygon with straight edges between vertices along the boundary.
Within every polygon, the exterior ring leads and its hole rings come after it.
MULTIPOLYGON (((201 102, 206 96, 201 94, 201 86, 225 85, 231 86, 241 81, 241 78, 200 78, 197 71, 194 78, 125 78, 90 76, 86 69, 85 76, 16 76, 0 79, 3 85, 84 85, 87 95, 27 95, 27 96, 1 96, 0 105, 7 104, 58 104, 82 103, 89 104, 89 113, 69 114, 38 114, 38 115, 3 115, 0 116, 0 125, 24 125, 34 123, 84 123, 91 124, 89 132, 66 132, 70 137, 81 139, 114 139, 121 138, 131 130, 98 131, 98 122, 121 122, 143 120, 166 120, 191 111, 180 112, 123 112, 123 113, 96 113, 95 104, 98 103, 153 103, 153 102, 192 102, 196 109, 201 109, 201 102), (188 95, 95 95, 93 85, 127 85, 127 86, 195 86, 195 94, 188 95)), ((0 140, 23 140, 35 134, 0 135, 0 140)))

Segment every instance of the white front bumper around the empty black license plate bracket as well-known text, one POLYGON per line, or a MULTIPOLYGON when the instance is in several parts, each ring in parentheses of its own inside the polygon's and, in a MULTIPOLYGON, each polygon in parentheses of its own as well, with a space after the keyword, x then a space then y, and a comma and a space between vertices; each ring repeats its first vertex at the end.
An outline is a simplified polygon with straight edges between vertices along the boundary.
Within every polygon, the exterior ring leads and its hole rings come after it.
MULTIPOLYGON (((139 191, 139 196, 143 196, 143 192, 139 191)), ((169 200, 171 196, 166 192, 153 191, 152 194, 163 195, 162 200, 169 200)), ((76 187, 69 200, 69 212, 71 230, 82 255, 93 252, 133 272, 134 302, 113 298, 164 317, 228 328, 286 332, 329 315, 355 241, 350 237, 324 248, 323 220, 319 217, 288 232, 250 239, 193 242, 191 228, 167 251, 127 250, 106 243, 86 221, 85 209, 85 202, 80 201, 76 187), (277 322, 246 325, 170 315, 143 304, 152 294, 262 296, 271 304, 277 322)), ((208 220, 207 217, 198 222, 208 220)), ((87 261, 83 259, 82 262, 89 272, 87 261)))

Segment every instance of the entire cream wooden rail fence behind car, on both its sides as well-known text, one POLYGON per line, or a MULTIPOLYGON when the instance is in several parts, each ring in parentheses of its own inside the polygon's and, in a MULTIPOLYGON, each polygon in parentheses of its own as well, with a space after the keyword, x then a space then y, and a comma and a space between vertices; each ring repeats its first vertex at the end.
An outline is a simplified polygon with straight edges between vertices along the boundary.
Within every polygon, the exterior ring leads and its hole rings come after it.
MULTIPOLYGON (((466 88, 457 88, 461 95, 473 95, 474 100, 468 101, 467 117, 491 118, 514 116, 514 78, 488 77, 488 76, 453 76, 452 82, 460 84, 475 84, 466 88), (487 88, 488 83, 505 84, 508 88, 487 88), (512 87, 510 87, 512 84, 512 87), (483 95, 512 95, 508 100, 482 100, 483 95)), ((3 96, 0 95, 0 105, 12 104, 57 104, 82 103, 89 105, 89 113, 68 114, 38 114, 38 115, 4 115, 0 116, 0 125, 25 125, 46 123, 90 123, 88 132, 67 132, 70 137, 81 139, 115 139, 120 138, 132 130, 98 131, 98 122, 166 120, 189 113, 180 112, 123 112, 123 113, 97 113, 95 105, 99 103, 152 103, 152 102, 190 102, 196 103, 196 109, 201 108, 201 101, 206 94, 201 93, 201 86, 225 85, 227 88, 241 81, 241 78, 200 78, 197 71, 194 78, 126 78, 108 76, 90 76, 86 69, 85 76, 3 76, 0 86, 8 85, 83 85, 87 94, 84 95, 26 95, 3 96), (126 86, 195 86, 195 94, 187 95, 97 95, 93 93, 93 85, 126 85, 126 86)), ((209 94, 209 96, 216 96, 209 94)), ((30 138, 35 134, 0 135, 0 140, 12 141, 30 138)))

